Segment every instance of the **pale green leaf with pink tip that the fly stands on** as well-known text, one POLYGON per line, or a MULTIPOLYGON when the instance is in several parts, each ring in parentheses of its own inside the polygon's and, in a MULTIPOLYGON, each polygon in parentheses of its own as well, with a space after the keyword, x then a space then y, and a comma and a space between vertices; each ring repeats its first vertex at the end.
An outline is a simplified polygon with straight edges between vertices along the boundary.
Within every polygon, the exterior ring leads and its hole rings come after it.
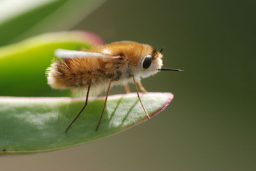
MULTIPOLYGON (((170 93, 141 94, 150 117, 172 101, 170 93)), ((104 98, 92 98, 72 125, 65 129, 84 105, 84 98, 0 98, 0 154, 24 154, 63 149, 118 133, 147 121, 135 93, 109 96, 99 130, 95 131, 104 98)))

